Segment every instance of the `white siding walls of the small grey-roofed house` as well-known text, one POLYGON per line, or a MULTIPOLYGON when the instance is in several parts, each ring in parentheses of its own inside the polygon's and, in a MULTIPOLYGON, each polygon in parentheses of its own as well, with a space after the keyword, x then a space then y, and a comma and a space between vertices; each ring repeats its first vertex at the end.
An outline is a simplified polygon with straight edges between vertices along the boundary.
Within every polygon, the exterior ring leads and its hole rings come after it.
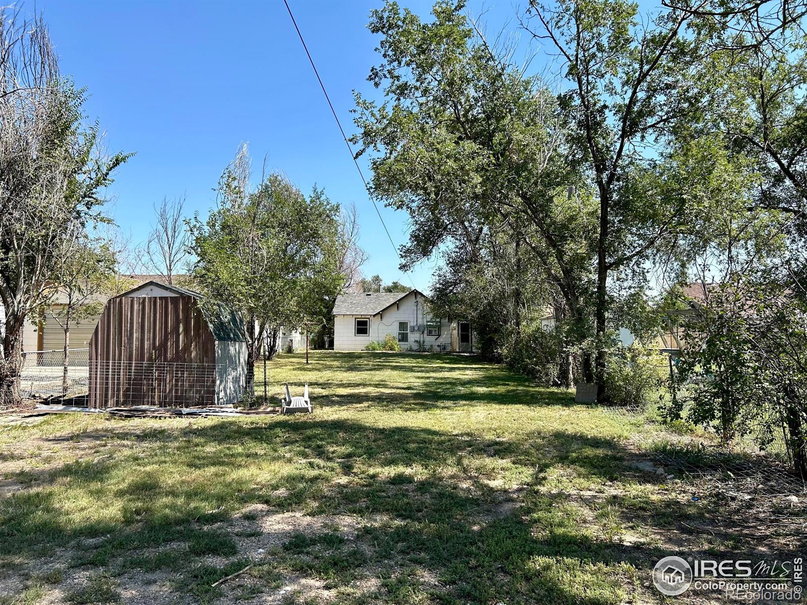
POLYGON ((433 319, 429 315, 428 308, 424 309, 424 298, 412 293, 393 304, 380 315, 336 315, 333 327, 333 348, 337 351, 361 351, 370 343, 370 340, 384 340, 387 334, 395 336, 398 340, 398 322, 409 323, 408 342, 399 343, 406 351, 410 348, 417 350, 418 340, 423 341, 423 348, 431 346, 434 350, 439 350, 439 345, 444 344, 445 350, 450 349, 451 344, 451 324, 445 319, 441 320, 440 336, 427 336, 426 332, 412 332, 412 326, 425 324, 433 319), (370 319, 370 334, 368 336, 357 336, 355 333, 355 320, 358 318, 370 319))

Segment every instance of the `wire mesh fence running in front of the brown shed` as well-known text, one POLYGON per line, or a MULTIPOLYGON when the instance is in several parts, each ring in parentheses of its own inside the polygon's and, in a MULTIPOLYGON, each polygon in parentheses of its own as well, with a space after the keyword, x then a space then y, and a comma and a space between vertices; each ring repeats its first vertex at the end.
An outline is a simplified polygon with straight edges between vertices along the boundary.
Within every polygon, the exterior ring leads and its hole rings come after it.
POLYGON ((90 361, 87 349, 70 350, 65 364, 61 351, 36 351, 24 355, 20 390, 30 401, 66 406, 193 407, 224 403, 237 377, 227 365, 90 361))

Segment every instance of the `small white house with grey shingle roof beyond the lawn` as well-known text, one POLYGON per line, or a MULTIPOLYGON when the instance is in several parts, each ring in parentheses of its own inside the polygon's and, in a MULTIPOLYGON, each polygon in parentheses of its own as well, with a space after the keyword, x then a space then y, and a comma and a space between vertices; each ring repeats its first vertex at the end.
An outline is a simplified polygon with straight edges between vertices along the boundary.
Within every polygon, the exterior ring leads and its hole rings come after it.
POLYGON ((403 350, 474 350, 470 322, 433 317, 428 299, 418 290, 340 294, 333 316, 333 348, 337 351, 361 351, 370 341, 383 342, 387 334, 403 350))

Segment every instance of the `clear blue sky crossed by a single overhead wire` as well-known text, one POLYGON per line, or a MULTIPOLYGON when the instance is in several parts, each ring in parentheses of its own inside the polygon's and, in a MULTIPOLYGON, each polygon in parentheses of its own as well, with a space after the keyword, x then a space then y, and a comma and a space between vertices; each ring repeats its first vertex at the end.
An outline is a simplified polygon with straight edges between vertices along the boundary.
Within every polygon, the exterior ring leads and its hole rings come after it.
MULTIPOLYGON (((289 3, 352 132, 352 90, 377 94, 366 76, 378 63, 378 39, 366 23, 381 2, 289 3)), ((421 15, 431 6, 400 3, 421 15)), ((316 183, 334 202, 355 202, 370 253, 364 273, 409 283, 282 2, 38 0, 36 9, 44 12, 63 73, 90 93, 86 111, 106 131, 107 146, 136 152, 109 192, 112 215, 134 242, 144 240, 152 205, 164 196, 185 194, 186 211, 206 215, 217 178, 245 141, 258 170, 266 155, 270 169, 304 191, 316 183)), ((471 3, 472 14, 480 10, 500 27, 516 9, 509 0, 471 3)), ((403 243, 407 216, 381 211, 395 243, 403 243)), ((425 262, 410 273, 416 287, 428 289, 434 266, 425 262)))

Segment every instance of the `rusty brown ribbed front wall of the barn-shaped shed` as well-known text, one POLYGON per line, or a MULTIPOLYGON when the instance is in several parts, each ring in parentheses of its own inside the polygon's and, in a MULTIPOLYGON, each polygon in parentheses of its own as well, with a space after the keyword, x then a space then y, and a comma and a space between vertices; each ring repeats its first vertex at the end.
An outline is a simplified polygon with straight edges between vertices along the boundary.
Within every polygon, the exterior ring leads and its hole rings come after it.
POLYGON ((90 407, 198 405, 214 392, 215 339, 194 298, 109 300, 90 339, 90 407))

